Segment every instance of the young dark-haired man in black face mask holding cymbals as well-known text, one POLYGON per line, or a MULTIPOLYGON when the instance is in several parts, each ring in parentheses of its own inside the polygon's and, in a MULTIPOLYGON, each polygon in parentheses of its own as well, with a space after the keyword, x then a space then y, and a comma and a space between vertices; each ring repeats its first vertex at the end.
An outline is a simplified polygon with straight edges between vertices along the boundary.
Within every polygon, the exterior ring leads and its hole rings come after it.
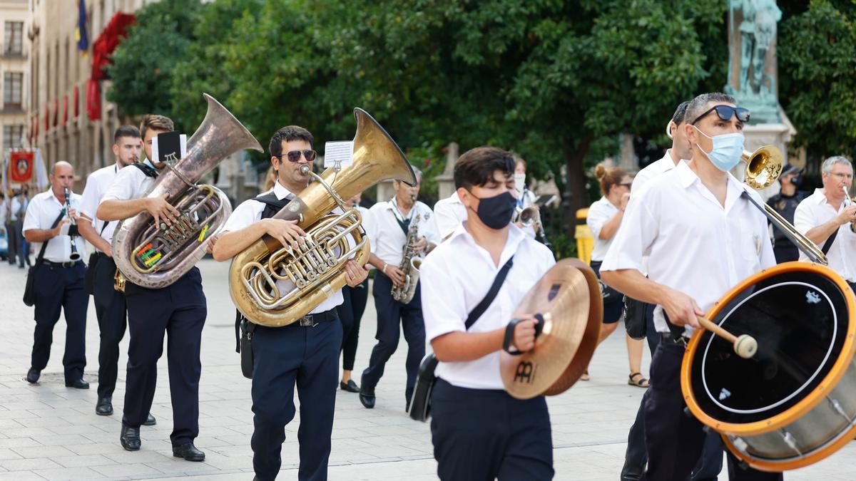
MULTIPOLYGON (((514 309, 555 264, 550 249, 511 224, 517 205, 513 175, 508 151, 479 147, 464 153, 455 163, 455 187, 467 221, 422 264, 425 332, 440 361, 431 397, 431 442, 444 481, 554 475, 544 396, 514 399, 499 372, 499 351, 514 309), (494 282, 500 283, 496 298, 485 299, 494 282), (490 304, 467 330, 465 321, 483 300, 490 304)), ((521 351, 535 341, 535 320, 524 319, 513 332, 514 347, 521 351)))

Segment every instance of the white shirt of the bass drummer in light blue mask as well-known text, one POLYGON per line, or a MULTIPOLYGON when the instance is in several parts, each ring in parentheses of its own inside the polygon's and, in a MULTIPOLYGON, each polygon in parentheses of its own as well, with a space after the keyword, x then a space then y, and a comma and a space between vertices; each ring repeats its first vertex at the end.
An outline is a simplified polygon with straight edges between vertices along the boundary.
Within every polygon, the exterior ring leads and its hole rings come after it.
MULTIPOLYGON (((704 187, 687 163, 651 180, 633 193, 621 227, 603 259, 601 272, 635 269, 648 278, 692 297, 707 311, 728 289, 776 264, 767 218, 748 200, 758 193, 728 174, 725 206, 704 187)), ((663 307, 654 311, 658 332, 669 332, 663 307)), ((691 336, 687 327, 684 336, 691 336)))

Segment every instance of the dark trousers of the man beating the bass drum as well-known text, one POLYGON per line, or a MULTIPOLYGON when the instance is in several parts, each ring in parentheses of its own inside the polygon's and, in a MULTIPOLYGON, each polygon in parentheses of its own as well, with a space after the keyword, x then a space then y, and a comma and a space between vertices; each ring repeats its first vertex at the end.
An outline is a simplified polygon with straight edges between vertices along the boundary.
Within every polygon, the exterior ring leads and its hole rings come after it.
MULTIPOLYGON (((681 395, 681 359, 685 349, 661 342, 651 359, 651 387, 645 392, 645 445, 648 467, 640 479, 650 481, 689 479, 702 454, 705 435, 698 419, 684 413, 681 395)), ((727 453, 731 481, 781 480, 780 472, 741 468, 727 453)))

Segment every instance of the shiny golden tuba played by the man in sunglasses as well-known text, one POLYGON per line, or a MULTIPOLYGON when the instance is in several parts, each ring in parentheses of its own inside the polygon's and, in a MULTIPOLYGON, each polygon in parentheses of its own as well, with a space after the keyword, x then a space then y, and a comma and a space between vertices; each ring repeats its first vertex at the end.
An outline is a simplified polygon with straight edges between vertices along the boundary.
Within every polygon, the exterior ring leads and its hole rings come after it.
POLYGON ((229 294, 238 311, 254 324, 294 323, 345 285, 342 266, 352 254, 360 265, 366 264, 369 240, 360 211, 349 209, 343 199, 387 179, 416 183, 410 163, 383 127, 365 110, 354 109, 354 116, 353 163, 326 169, 322 175, 303 166, 315 182, 273 217, 297 220, 306 231, 304 243, 293 249, 265 235, 232 260, 229 294), (342 214, 330 213, 336 206, 342 214))

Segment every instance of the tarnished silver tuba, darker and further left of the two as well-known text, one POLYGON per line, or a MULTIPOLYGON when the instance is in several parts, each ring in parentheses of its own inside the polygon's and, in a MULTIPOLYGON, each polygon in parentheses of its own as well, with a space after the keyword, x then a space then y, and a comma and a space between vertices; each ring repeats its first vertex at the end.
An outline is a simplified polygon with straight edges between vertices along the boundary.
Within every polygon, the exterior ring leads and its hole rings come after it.
MULTIPOLYGON (((113 258, 128 282, 144 288, 165 288, 177 281, 205 255, 207 242, 232 212, 229 199, 217 187, 196 181, 223 158, 244 149, 261 151, 259 142, 208 94, 208 111, 187 140, 187 155, 158 176, 147 197, 162 197, 179 211, 176 223, 154 225, 140 212, 116 227, 113 258)), ((118 282, 117 282, 118 283, 118 282)), ((124 282, 122 282, 124 284, 124 282)))

